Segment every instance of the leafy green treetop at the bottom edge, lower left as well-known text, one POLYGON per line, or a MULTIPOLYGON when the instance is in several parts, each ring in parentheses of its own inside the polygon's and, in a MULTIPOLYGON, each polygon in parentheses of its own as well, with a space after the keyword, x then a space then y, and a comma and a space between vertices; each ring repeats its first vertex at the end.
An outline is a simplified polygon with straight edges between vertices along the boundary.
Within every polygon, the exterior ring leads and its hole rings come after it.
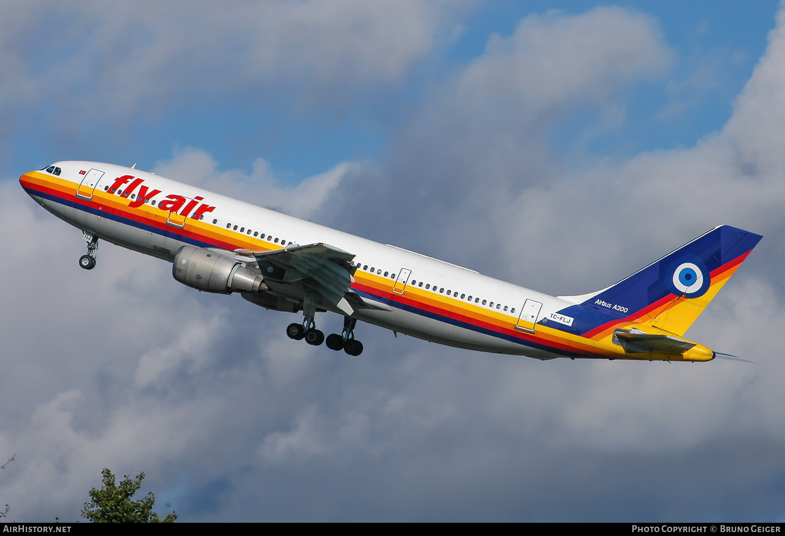
POLYGON ((177 514, 166 514, 160 520, 158 514, 152 511, 155 505, 155 495, 152 491, 138 501, 132 501, 133 494, 139 491, 144 480, 144 473, 139 473, 131 480, 126 475, 120 485, 115 484, 115 475, 109 469, 101 471, 104 475, 104 487, 90 490, 90 502, 85 503, 82 517, 93 523, 173 523, 177 514))

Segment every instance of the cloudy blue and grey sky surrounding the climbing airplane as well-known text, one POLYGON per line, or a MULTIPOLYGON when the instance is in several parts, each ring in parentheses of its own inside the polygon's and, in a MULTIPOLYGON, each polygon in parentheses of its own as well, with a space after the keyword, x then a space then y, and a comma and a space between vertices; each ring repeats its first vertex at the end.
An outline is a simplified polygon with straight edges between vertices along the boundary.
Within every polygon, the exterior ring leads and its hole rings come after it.
POLYGON ((8 0, 0 503, 77 521, 108 467, 192 522, 783 521, 782 139, 772 1, 8 0), (553 295, 739 226, 763 241, 686 335, 755 364, 293 342, 164 261, 80 269, 18 183, 71 159, 553 295))

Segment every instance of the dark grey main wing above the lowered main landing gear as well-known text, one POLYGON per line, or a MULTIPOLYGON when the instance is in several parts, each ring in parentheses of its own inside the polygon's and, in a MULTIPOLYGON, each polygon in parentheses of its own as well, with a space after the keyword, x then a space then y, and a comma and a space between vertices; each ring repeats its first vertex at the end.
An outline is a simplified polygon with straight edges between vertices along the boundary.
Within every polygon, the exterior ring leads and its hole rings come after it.
MULTIPOLYGON (((382 302, 364 299, 352 290, 355 255, 330 244, 288 245, 273 251, 235 249, 235 254, 246 255, 282 269, 282 282, 301 281, 343 313, 351 315, 355 309, 392 310, 382 302)), ((263 277, 269 277, 262 272, 263 277)))

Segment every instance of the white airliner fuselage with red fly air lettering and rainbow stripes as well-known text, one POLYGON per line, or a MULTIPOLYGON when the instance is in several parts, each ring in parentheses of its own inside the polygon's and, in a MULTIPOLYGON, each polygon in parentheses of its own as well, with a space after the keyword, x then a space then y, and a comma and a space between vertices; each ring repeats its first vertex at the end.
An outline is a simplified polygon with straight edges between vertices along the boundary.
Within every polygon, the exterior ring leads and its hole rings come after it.
MULTIPOLYGON (((355 255, 352 290, 385 304, 355 310, 356 320, 484 352, 541 359, 618 353, 570 333, 571 318, 558 311, 574 302, 137 169, 88 161, 55 166, 59 175, 22 176, 28 194, 71 225, 137 252, 171 262, 184 244, 233 257, 238 249, 330 244, 355 255)), ((303 299, 285 285, 268 292, 295 305, 303 299)), ((341 313, 329 303, 319 310, 341 313)))

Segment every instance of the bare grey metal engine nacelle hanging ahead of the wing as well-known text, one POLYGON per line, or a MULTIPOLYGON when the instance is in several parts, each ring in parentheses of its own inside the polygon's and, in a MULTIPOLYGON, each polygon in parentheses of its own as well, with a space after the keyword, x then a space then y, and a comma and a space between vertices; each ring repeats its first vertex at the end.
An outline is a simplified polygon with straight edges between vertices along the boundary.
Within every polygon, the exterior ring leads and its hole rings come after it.
POLYGON ((184 245, 174 255, 172 275, 182 284, 204 292, 260 292, 267 290, 261 274, 226 255, 184 245))

